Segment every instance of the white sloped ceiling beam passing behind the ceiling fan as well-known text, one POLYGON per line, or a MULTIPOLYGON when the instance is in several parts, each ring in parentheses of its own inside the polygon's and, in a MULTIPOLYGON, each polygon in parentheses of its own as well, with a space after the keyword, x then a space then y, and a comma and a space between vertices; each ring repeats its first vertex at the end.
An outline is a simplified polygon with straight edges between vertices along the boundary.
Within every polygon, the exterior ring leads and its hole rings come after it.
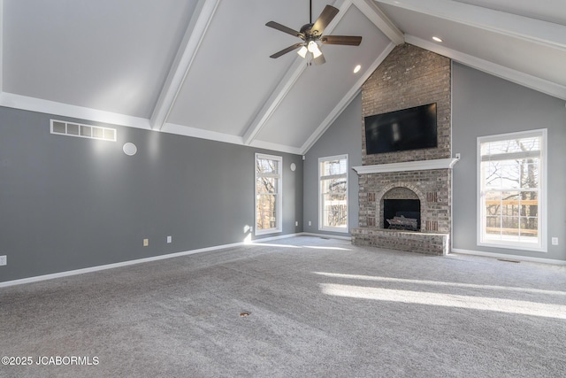
MULTIPOLYGON (((338 25, 340 19, 342 19, 346 11, 348 11, 348 8, 351 4, 352 2, 350 0, 342 2, 340 6, 337 6, 337 4, 335 4, 339 12, 336 17, 334 17, 332 22, 328 24, 327 27, 325 27, 325 33, 332 33, 333 28, 338 25)), ((250 145, 254 142, 256 136, 259 134, 262 128, 264 128, 267 121, 272 117, 273 113, 279 107, 279 104, 281 104, 283 99, 293 88, 294 83, 299 79, 306 68, 307 65, 305 64, 304 59, 297 56, 297 58, 295 58, 294 60, 293 65, 289 67, 283 79, 279 81, 279 84, 277 85, 275 90, 272 91, 272 95, 269 96, 267 101, 264 103, 264 106, 262 106, 261 110, 256 114, 256 118, 252 120, 249 127, 244 132, 244 135, 242 136, 244 144, 250 145)))

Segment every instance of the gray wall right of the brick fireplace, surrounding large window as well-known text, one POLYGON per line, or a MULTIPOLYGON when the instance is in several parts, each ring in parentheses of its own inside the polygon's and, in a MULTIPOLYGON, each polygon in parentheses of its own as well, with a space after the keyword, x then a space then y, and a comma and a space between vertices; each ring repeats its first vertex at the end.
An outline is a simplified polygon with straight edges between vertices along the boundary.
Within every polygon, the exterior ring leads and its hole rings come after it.
POLYGON ((452 151, 455 165, 453 247, 534 258, 566 260, 566 109, 564 101, 459 64, 453 65, 452 151), (548 129, 548 252, 478 246, 478 136, 548 129), (550 238, 558 237, 559 245, 550 238))

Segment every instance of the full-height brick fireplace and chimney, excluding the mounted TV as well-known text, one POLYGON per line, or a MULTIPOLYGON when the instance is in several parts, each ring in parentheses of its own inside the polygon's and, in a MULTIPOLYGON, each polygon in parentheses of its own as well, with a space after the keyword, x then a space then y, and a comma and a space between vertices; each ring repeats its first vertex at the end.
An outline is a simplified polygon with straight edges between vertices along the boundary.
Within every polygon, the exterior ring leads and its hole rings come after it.
POLYGON ((450 97, 450 60, 407 43, 397 46, 363 84, 363 117, 436 103, 438 146, 369 155, 363 129, 363 166, 354 167, 359 228, 352 230, 352 243, 435 255, 449 251, 457 161, 451 158, 450 97), (418 215, 417 230, 386 228, 389 206, 402 203, 395 213, 418 215))

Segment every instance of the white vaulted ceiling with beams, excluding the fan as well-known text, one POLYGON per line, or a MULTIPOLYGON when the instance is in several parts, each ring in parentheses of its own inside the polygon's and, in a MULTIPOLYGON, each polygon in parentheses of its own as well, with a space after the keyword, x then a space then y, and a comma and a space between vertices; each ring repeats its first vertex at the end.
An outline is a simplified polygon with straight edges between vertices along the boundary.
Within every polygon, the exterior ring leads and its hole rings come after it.
POLYGON ((0 0, 0 105, 304 154, 403 42, 566 100, 563 0, 326 4, 324 34, 363 41, 307 66, 265 23, 309 0, 0 0))

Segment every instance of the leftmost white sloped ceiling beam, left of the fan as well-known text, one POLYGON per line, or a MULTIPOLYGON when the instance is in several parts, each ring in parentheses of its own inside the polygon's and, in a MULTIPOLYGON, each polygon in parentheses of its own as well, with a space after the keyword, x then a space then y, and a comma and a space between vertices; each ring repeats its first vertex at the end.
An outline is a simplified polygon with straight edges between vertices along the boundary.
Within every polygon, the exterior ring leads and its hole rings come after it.
POLYGON ((219 2, 220 0, 199 0, 196 5, 195 13, 188 23, 187 31, 180 42, 180 48, 151 114, 149 123, 152 129, 161 130, 169 118, 219 2))

